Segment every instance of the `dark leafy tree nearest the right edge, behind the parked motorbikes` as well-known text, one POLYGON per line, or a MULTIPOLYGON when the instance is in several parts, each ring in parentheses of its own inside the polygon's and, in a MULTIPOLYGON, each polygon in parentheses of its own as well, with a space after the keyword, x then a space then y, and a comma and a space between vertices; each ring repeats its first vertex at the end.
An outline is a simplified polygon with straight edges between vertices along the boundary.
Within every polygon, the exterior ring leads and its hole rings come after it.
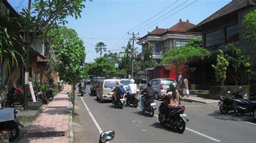
POLYGON ((228 61, 228 72, 231 73, 235 80, 235 85, 238 85, 241 74, 251 75, 252 63, 249 56, 242 55, 240 48, 235 48, 233 44, 225 46, 227 53, 225 59, 228 61))

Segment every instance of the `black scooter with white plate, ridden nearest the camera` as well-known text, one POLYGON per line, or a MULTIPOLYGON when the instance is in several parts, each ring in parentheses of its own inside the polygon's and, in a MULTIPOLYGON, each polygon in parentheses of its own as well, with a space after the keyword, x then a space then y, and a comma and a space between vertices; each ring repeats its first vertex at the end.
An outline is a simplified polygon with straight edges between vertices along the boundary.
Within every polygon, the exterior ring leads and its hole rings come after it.
MULTIPOLYGON (((164 106, 164 103, 162 102, 160 106, 164 106)), ((160 109, 159 106, 159 109, 160 109)), ((173 127, 176 128, 176 130, 180 133, 183 133, 186 128, 186 123, 188 122, 188 119, 186 118, 187 115, 184 114, 185 106, 179 106, 177 108, 170 109, 169 114, 166 116, 166 120, 164 123, 161 122, 163 117, 161 114, 158 114, 158 120, 162 125, 165 125, 167 127, 173 127)), ((160 111, 159 111, 160 112, 160 111)))

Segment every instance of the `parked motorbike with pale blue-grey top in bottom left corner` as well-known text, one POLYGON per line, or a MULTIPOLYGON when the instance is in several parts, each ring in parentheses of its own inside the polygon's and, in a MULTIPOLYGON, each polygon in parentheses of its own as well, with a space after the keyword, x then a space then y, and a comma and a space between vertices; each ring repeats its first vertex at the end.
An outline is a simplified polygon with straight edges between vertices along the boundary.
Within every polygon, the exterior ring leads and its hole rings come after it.
POLYGON ((0 130, 9 131, 9 141, 14 141, 19 137, 19 126, 24 127, 19 123, 16 115, 16 109, 1 109, 0 110, 0 130))

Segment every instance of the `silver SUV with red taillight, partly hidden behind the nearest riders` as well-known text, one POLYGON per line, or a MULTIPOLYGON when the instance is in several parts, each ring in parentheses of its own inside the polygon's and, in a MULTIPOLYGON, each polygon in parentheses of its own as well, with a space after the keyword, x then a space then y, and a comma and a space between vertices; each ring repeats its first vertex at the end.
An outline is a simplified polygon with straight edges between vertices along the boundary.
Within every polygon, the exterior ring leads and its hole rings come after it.
POLYGON ((171 78, 156 78, 150 82, 152 84, 152 88, 156 90, 154 98, 159 99, 159 96, 165 94, 166 90, 169 89, 169 85, 176 81, 171 78))

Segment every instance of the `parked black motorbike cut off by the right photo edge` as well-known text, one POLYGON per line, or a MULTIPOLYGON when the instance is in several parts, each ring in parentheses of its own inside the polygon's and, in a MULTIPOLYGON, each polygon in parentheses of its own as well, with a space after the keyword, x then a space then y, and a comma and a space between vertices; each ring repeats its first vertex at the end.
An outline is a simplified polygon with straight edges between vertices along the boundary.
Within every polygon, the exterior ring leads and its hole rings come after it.
POLYGON ((254 121, 256 121, 256 93, 247 99, 246 111, 252 113, 254 121))

